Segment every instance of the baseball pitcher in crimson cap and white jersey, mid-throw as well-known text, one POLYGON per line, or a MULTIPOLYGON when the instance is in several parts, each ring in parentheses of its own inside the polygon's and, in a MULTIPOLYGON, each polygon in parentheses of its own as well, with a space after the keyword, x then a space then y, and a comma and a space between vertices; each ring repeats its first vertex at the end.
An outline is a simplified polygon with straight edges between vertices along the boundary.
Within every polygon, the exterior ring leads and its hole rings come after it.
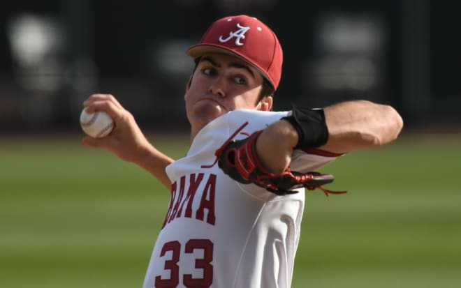
POLYGON ((305 192, 331 192, 323 185, 332 175, 316 170, 393 141, 402 119, 365 100, 272 112, 282 50, 254 17, 217 20, 187 54, 196 67, 184 94, 191 145, 183 158, 152 146, 113 96, 84 103, 108 112, 115 129, 83 144, 140 165, 171 192, 143 287, 290 287, 305 192))

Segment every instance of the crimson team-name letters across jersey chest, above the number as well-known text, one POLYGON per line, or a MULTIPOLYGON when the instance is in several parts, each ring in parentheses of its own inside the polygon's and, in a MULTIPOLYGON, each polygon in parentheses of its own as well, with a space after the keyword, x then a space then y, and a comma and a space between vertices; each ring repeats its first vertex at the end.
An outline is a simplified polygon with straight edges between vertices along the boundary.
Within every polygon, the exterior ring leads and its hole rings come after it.
POLYGON ((193 173, 184 175, 180 181, 171 185, 171 199, 166 213, 162 229, 175 218, 195 218, 208 224, 214 225, 214 195, 216 190, 216 175, 204 173, 193 173), (200 185, 205 183, 204 185, 200 185), (199 187, 203 187, 199 190, 199 187), (199 192, 197 192, 199 191, 199 192), (199 199, 200 198, 200 199, 199 199), (193 202, 199 199, 200 203, 196 209, 193 202), (207 211, 205 217, 205 210, 207 211))

